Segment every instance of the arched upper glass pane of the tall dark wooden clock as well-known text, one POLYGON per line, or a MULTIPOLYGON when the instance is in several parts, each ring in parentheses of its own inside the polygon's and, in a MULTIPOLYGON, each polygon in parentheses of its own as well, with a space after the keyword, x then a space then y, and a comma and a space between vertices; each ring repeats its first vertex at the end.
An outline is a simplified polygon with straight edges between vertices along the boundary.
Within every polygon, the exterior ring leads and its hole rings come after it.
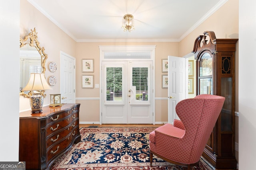
POLYGON ((199 76, 212 75, 212 57, 209 53, 204 53, 200 60, 199 76))

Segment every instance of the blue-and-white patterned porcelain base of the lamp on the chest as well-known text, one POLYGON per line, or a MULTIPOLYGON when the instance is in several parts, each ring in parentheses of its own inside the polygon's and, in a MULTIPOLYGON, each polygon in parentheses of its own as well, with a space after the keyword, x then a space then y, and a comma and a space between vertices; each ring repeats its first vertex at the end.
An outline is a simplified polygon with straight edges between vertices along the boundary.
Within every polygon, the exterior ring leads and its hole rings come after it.
POLYGON ((32 113, 41 113, 44 104, 44 97, 40 94, 30 96, 30 107, 32 113))

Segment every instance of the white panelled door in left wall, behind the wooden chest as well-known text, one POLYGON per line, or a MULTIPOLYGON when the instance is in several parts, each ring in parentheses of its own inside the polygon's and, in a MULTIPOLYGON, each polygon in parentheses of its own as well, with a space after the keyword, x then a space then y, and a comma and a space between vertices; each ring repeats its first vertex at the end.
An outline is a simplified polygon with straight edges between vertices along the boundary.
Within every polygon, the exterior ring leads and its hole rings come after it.
POLYGON ((60 94, 62 103, 75 103, 76 59, 64 52, 60 53, 60 94))

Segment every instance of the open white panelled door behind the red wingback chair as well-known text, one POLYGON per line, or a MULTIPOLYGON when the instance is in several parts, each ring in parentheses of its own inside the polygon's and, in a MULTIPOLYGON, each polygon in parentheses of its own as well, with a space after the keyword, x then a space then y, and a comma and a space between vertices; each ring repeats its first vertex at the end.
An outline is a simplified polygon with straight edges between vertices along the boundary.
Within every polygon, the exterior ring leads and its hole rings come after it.
POLYGON ((186 98, 185 58, 168 56, 168 123, 179 119, 176 104, 186 98))

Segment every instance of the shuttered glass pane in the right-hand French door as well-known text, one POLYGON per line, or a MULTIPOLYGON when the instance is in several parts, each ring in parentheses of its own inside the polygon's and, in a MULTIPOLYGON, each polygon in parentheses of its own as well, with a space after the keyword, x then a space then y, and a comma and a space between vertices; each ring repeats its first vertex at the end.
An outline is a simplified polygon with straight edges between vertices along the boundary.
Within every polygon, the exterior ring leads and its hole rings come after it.
POLYGON ((136 101, 148 101, 148 67, 132 67, 132 86, 136 86, 136 101))

